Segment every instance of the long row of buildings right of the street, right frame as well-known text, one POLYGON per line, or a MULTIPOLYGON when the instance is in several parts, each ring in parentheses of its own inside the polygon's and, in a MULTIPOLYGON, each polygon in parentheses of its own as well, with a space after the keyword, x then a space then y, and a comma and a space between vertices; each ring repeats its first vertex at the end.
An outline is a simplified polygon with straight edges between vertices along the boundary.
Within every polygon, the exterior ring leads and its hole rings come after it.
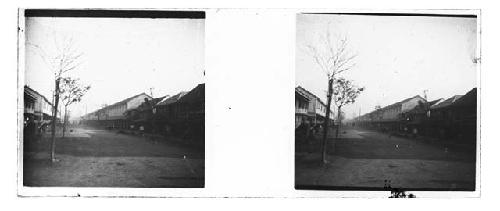
POLYGON ((427 101, 416 95, 354 118, 352 124, 388 132, 476 140, 477 89, 427 101))

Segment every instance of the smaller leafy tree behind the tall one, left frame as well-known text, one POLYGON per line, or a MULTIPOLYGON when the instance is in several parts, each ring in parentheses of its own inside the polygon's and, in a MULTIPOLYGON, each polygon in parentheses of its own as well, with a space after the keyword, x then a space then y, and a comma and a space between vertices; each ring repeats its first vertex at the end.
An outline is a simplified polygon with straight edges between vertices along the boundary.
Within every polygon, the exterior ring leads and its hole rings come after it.
POLYGON ((61 78, 61 100, 64 106, 64 121, 63 121, 63 134, 66 133, 66 125, 68 122, 68 106, 73 103, 80 102, 82 97, 90 89, 90 86, 85 86, 79 83, 79 79, 73 79, 71 77, 61 78))

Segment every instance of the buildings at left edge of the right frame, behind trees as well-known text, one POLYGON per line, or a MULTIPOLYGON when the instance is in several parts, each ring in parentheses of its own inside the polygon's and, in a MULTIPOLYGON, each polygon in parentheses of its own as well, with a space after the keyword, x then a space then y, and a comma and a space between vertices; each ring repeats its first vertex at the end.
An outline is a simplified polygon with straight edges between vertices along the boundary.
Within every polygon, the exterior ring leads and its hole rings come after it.
MULTIPOLYGON (((302 124, 321 125, 326 118, 326 104, 301 86, 295 88, 295 128, 302 124)), ((332 106, 333 107, 333 106, 332 106)), ((330 109, 331 125, 334 123, 334 110, 330 109)))

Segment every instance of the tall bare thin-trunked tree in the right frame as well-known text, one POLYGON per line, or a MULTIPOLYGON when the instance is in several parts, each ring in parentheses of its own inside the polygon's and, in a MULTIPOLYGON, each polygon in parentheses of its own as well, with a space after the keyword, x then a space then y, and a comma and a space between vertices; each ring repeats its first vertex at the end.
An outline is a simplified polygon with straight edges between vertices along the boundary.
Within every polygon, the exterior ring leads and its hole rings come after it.
POLYGON ((322 141, 322 159, 326 163, 327 156, 327 137, 328 137, 328 124, 330 121, 330 107, 332 104, 333 86, 337 76, 347 70, 350 70, 354 65, 354 58, 356 54, 348 50, 348 40, 346 36, 336 37, 335 39, 326 31, 325 37, 319 45, 307 46, 314 62, 326 74, 328 81, 327 91, 327 108, 325 121, 323 122, 323 141, 322 141))

